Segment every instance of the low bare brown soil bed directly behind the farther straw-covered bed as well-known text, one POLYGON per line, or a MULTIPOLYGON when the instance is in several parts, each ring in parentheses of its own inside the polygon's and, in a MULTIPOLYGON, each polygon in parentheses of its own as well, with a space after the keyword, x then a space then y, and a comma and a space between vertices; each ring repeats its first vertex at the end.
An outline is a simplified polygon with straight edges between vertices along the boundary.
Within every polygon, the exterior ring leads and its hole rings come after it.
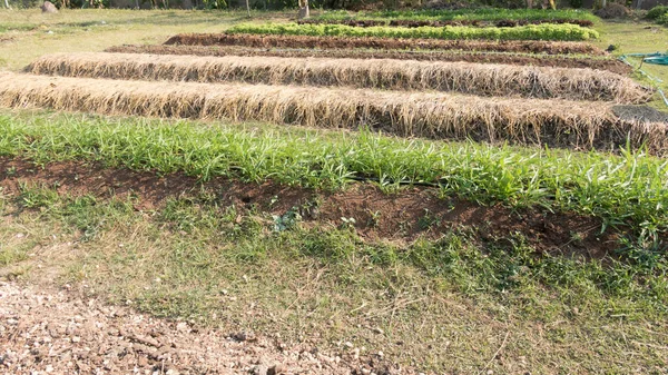
POLYGON ((120 53, 156 53, 156 55, 193 55, 193 56, 271 56, 296 58, 351 58, 351 59, 394 59, 419 61, 462 61, 479 63, 505 63, 517 66, 558 67, 558 68, 590 68, 608 70, 618 75, 628 75, 632 68, 613 59, 588 59, 547 57, 540 55, 500 55, 497 52, 421 52, 399 50, 366 50, 366 49, 259 49, 237 46, 117 46, 106 50, 120 53))

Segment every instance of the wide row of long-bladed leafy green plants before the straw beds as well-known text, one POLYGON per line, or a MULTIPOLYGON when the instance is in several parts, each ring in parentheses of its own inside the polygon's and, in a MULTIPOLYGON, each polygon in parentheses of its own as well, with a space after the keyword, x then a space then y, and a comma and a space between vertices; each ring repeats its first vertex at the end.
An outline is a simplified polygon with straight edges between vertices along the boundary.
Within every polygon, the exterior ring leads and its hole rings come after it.
POLYGON ((317 188, 337 188, 351 177, 374 177, 383 186, 435 182, 444 194, 487 204, 577 211, 638 231, 668 228, 668 161, 627 151, 612 156, 365 131, 323 137, 289 127, 248 131, 189 121, 2 115, 0 155, 317 188))

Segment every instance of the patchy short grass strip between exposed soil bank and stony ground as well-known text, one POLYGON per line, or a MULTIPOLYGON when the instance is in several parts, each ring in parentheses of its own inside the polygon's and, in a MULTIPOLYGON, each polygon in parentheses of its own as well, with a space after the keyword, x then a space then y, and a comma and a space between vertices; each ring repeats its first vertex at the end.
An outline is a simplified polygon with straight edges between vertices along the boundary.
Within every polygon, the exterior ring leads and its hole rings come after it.
POLYGON ((12 217, 0 240, 26 227, 27 238, 39 238, 39 257, 19 264, 29 269, 22 279, 57 275, 108 303, 225 332, 305 336, 322 351, 351 341, 436 373, 489 365, 495 373, 659 374, 666 365, 665 256, 650 270, 537 257, 512 235, 482 246, 453 231, 401 248, 362 241, 345 227, 297 221, 277 231, 267 214, 225 205, 219 194, 202 190, 139 213, 132 199, 23 186, 0 199, 1 217, 12 217), (504 336, 504 361, 490 363, 504 336))

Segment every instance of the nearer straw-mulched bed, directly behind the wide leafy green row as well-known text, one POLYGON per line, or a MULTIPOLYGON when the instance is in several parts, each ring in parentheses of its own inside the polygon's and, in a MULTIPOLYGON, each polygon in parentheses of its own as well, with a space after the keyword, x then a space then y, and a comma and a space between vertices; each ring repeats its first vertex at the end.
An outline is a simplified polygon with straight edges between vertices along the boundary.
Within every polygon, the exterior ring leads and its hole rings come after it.
POLYGON ((289 86, 145 82, 0 73, 0 106, 107 115, 370 127, 400 136, 666 150, 666 125, 622 121, 610 105, 289 86))

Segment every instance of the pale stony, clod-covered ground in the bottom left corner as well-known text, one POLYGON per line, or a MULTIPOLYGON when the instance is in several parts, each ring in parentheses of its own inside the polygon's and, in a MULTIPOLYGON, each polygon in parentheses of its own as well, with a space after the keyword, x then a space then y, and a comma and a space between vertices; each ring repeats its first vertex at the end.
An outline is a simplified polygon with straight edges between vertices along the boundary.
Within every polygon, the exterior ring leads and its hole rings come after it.
MULTIPOLYGON (((346 345, 347 344, 347 345, 346 345)), ((360 357, 153 318, 68 289, 0 282, 3 374, 407 374, 382 353, 360 357)))

